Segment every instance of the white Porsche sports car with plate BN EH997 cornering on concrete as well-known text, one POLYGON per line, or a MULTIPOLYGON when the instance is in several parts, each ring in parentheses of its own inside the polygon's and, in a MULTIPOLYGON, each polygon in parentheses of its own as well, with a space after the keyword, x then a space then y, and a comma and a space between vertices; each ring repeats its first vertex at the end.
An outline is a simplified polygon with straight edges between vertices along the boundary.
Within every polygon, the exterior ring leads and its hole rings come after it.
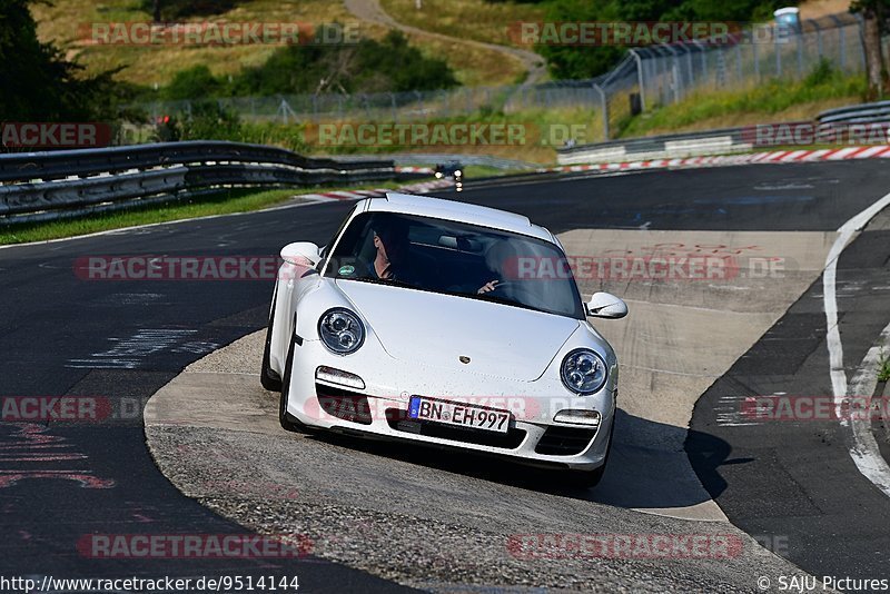
POLYGON ((560 241, 523 216, 388 194, 281 250, 261 382, 286 429, 458 447, 596 484, 619 366, 560 241))

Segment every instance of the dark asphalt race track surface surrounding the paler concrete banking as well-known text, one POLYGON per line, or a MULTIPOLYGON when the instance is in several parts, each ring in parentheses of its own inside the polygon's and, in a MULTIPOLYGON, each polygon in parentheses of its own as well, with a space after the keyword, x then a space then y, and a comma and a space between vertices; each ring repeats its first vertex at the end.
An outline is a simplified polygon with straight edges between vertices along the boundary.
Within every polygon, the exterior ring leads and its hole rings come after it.
MULTIPOLYGON (((834 231, 888 192, 886 164, 843 161, 471 182, 459 195, 435 195, 522 212, 554 232, 791 232, 834 231)), ((270 280, 89 281, 75 273, 78 258, 271 256, 296 239, 324 245, 349 207, 324 202, 0 249, 0 396, 99 396, 141 406, 187 365, 266 324, 270 280)), ((890 230, 867 230, 839 263, 849 375, 890 317, 888 246, 890 230)), ((715 413, 728 394, 831 394, 821 291, 820 279, 703 395, 686 447, 728 518, 749 534, 781 537, 779 555, 813 575, 887 577, 890 499, 858 472, 834 425, 730 426, 715 413)), ((315 557, 158 563, 83 555, 78 543, 90 534, 244 533, 165 478, 138 415, 2 423, 0 461, 2 575, 274 573, 299 574, 308 592, 404 590, 315 557)))

